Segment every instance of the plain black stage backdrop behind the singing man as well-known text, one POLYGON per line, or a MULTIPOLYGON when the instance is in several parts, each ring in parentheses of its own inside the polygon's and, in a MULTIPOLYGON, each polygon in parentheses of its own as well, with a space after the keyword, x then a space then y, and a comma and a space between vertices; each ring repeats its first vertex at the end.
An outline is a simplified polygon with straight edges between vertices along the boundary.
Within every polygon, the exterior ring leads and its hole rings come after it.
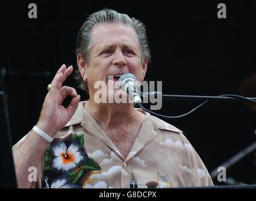
MULTIPOLYGON (((62 63, 76 66, 79 28, 88 14, 102 8, 146 24, 152 53, 146 80, 162 80, 165 94, 256 97, 255 1, 1 1, 0 7, 0 68, 9 72, 13 144, 36 124, 56 70, 62 63), (28 18, 30 3, 37 4, 37 19, 28 18), (219 3, 226 4, 226 19, 217 17, 219 3), (45 71, 51 75, 29 75, 45 71)), ((65 84, 76 87, 72 77, 65 84)), ((164 100, 158 112, 174 116, 197 104, 164 100)), ((255 117, 255 106, 210 102, 187 117, 166 121, 183 131, 211 171, 256 140, 255 117)), ((255 183, 255 158, 253 151, 229 168, 227 177, 255 183)))

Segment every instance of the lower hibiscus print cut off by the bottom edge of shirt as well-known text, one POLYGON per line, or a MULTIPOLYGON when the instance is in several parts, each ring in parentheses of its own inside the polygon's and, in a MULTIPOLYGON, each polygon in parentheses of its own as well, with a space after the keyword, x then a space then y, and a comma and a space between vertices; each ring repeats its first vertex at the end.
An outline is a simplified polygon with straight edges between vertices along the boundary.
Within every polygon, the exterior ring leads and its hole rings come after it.
POLYGON ((66 175, 61 175, 55 178, 49 185, 48 177, 44 177, 46 188, 83 188, 81 185, 71 183, 66 175))

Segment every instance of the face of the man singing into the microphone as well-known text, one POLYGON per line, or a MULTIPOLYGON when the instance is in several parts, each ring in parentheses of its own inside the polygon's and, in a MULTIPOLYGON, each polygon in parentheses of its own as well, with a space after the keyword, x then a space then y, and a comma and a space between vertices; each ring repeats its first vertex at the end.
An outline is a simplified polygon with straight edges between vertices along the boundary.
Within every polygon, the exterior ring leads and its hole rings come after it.
MULTIPOLYGON (((136 32, 131 26, 124 24, 100 24, 92 31, 93 46, 91 48, 89 66, 86 76, 90 96, 98 89, 94 89, 95 82, 103 81, 107 84, 107 97, 117 92, 120 75, 133 73, 137 80, 144 79, 147 64, 141 63, 141 51, 136 32), (109 80, 113 76, 113 80, 109 80), (115 90, 110 89, 110 85, 115 90)), ((126 94, 125 94, 126 95, 126 94)))

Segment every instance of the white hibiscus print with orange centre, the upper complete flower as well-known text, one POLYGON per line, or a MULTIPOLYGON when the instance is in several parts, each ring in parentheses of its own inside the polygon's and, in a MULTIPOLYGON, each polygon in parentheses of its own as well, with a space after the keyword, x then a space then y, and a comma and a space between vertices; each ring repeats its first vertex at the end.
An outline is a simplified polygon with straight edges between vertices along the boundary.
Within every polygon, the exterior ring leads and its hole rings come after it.
POLYGON ((50 144, 50 154, 50 169, 61 174, 70 173, 88 160, 83 146, 76 139, 73 139, 69 146, 64 141, 50 144))

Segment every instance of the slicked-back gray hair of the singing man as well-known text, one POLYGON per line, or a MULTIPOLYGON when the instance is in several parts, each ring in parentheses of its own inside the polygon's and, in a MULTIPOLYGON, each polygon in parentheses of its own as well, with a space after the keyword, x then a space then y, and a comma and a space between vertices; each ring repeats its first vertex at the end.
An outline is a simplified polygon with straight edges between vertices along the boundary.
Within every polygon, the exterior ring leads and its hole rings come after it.
MULTIPOLYGON (((121 23, 131 26, 136 32, 139 41, 141 62, 144 63, 146 60, 150 62, 151 55, 144 24, 135 18, 130 18, 127 14, 117 13, 117 11, 112 9, 102 9, 91 14, 78 32, 76 55, 82 55, 87 65, 89 64, 91 47, 93 46, 91 32, 97 24, 103 23, 121 23)), ((79 70, 77 70, 75 78, 79 82, 79 87, 88 92, 88 85, 83 81, 79 70)))

